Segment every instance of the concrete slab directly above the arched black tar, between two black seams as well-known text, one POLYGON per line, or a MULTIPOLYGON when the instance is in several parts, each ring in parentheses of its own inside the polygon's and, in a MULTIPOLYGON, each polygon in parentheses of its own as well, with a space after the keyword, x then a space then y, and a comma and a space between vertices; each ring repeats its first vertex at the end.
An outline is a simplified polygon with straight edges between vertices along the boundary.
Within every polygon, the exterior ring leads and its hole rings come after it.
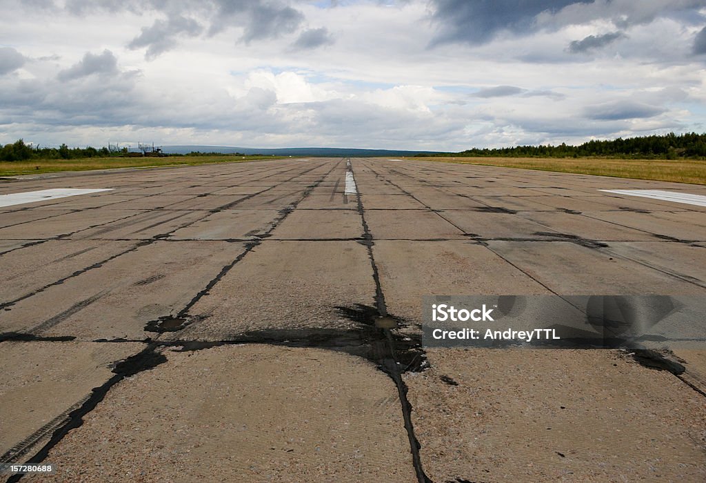
POLYGON ((227 340, 278 328, 350 328, 337 306, 371 304, 374 296, 366 247, 356 241, 266 240, 189 309, 196 321, 173 337, 227 340))

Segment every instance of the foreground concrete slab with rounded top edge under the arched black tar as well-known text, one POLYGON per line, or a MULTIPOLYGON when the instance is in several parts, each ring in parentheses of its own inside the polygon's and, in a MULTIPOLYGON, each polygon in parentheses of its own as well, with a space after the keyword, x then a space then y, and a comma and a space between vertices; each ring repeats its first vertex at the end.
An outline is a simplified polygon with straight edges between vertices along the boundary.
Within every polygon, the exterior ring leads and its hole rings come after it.
POLYGON ((364 359, 267 345, 164 355, 49 452, 54 481, 414 481, 397 390, 364 359))

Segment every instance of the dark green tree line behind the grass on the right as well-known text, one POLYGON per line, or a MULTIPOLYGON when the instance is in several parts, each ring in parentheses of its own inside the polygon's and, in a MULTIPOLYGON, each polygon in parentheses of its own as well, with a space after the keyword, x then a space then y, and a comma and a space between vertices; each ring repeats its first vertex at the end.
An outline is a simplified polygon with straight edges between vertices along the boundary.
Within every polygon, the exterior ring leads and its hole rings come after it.
POLYGON ((688 133, 677 136, 642 136, 617 138, 613 141, 588 141, 578 146, 515 146, 515 148, 472 148, 460 153, 438 153, 424 156, 459 157, 617 157, 641 160, 706 159, 706 134, 688 133))

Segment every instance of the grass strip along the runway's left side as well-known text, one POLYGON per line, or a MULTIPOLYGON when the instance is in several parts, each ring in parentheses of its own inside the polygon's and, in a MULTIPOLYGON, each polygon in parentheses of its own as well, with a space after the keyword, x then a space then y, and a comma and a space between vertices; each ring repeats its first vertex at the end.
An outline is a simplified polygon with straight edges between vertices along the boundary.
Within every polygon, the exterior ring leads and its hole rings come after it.
POLYGON ((214 162, 275 160, 273 156, 169 156, 169 157, 88 157, 80 160, 0 161, 0 176, 41 174, 60 171, 88 171, 125 167, 164 167, 205 165, 214 162))

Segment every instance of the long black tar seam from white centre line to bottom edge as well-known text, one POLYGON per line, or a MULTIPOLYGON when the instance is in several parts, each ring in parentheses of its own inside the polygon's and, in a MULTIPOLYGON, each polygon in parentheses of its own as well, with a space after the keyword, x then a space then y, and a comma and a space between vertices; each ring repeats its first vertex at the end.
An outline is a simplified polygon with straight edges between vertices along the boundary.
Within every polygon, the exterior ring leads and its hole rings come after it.
MULTIPOLYGON (((350 163, 350 158, 348 159, 348 162, 350 163)), ((352 163, 349 165, 349 169, 355 176, 352 163)), ((375 242, 373 241, 373 234, 371 233, 370 227, 368 226, 368 223, 365 219, 365 209, 360 195, 358 183, 356 183, 356 197, 358 203, 358 213, 361 217, 361 222, 363 225, 363 237, 365 239, 365 244, 368 249, 368 257, 370 258, 370 264, 373 270, 373 280, 375 282, 376 292, 375 304, 376 309, 378 310, 378 317, 387 317, 388 309, 385 304, 385 294, 383 293, 382 285, 380 282, 380 274, 378 272, 378 266, 375 262, 375 255, 373 254, 373 245, 375 244, 375 242)), ((419 483, 431 483, 431 479, 424 472, 424 467, 421 463, 421 455, 419 454, 421 444, 419 443, 419 439, 417 439, 417 435, 414 434, 414 424, 412 423, 412 403, 409 403, 409 399, 407 398, 408 388, 407 384, 405 384, 405 381, 402 380, 400 363, 398 362, 397 354, 395 353, 395 343, 393 340, 393 336, 390 333, 390 328, 381 328, 380 330, 382 330, 383 334, 385 335, 385 340, 389 349, 388 357, 384 357, 381 360, 380 366, 381 369, 385 372, 385 374, 388 374, 388 376, 392 378, 395 383, 395 387, 397 388, 397 397, 400 400, 400 406, 402 408, 402 418, 405 421, 405 430, 407 431, 407 438, 409 439, 409 450, 412 453, 412 465, 414 465, 414 474, 417 476, 417 481, 419 483)))

